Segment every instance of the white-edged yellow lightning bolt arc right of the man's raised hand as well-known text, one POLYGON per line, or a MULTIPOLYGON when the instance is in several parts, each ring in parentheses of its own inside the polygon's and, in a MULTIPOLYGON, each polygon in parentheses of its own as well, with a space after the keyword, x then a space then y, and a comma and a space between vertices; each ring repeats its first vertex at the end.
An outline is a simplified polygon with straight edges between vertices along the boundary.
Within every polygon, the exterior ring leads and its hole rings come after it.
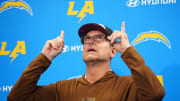
POLYGON ((167 39, 167 37, 157 31, 149 31, 149 32, 140 33, 131 44, 133 46, 136 46, 139 43, 149 41, 149 40, 154 40, 156 42, 162 42, 169 49, 171 49, 171 44, 170 44, 169 40, 167 39))

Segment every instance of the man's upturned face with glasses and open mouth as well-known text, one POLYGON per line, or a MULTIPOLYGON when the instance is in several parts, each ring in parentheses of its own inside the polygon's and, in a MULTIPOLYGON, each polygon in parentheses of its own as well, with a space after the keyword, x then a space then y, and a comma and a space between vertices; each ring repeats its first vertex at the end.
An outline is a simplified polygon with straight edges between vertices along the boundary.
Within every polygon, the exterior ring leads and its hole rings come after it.
POLYGON ((84 37, 83 60, 85 62, 110 61, 114 47, 100 31, 90 31, 84 37))

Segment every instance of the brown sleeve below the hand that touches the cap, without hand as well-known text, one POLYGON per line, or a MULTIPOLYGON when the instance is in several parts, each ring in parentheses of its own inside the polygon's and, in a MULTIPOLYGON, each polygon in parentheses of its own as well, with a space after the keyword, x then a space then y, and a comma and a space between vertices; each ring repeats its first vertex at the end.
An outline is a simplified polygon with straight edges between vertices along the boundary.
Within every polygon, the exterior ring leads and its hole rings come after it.
POLYGON ((136 49, 129 47, 121 57, 132 74, 133 83, 129 93, 135 95, 138 101, 161 101, 165 90, 136 49))

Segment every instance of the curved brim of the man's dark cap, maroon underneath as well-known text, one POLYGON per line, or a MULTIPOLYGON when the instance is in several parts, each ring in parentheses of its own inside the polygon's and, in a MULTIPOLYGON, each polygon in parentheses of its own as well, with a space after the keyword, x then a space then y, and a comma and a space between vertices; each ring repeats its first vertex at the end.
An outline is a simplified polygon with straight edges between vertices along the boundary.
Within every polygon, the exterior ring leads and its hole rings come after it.
POLYGON ((107 32, 105 31, 105 29, 96 23, 89 23, 89 24, 85 24, 82 27, 79 28, 78 34, 80 36, 80 38, 84 37, 89 31, 92 30, 96 30, 96 31, 100 31, 102 33, 104 33, 106 36, 108 35, 107 32))

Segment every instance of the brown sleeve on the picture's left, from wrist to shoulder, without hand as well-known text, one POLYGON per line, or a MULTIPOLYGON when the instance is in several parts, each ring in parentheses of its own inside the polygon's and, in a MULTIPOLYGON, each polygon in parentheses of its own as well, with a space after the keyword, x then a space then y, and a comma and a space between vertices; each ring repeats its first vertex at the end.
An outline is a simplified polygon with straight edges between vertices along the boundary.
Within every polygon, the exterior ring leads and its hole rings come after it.
POLYGON ((40 75, 49 67, 51 61, 42 53, 24 70, 8 94, 8 101, 55 101, 56 84, 37 86, 40 75))

